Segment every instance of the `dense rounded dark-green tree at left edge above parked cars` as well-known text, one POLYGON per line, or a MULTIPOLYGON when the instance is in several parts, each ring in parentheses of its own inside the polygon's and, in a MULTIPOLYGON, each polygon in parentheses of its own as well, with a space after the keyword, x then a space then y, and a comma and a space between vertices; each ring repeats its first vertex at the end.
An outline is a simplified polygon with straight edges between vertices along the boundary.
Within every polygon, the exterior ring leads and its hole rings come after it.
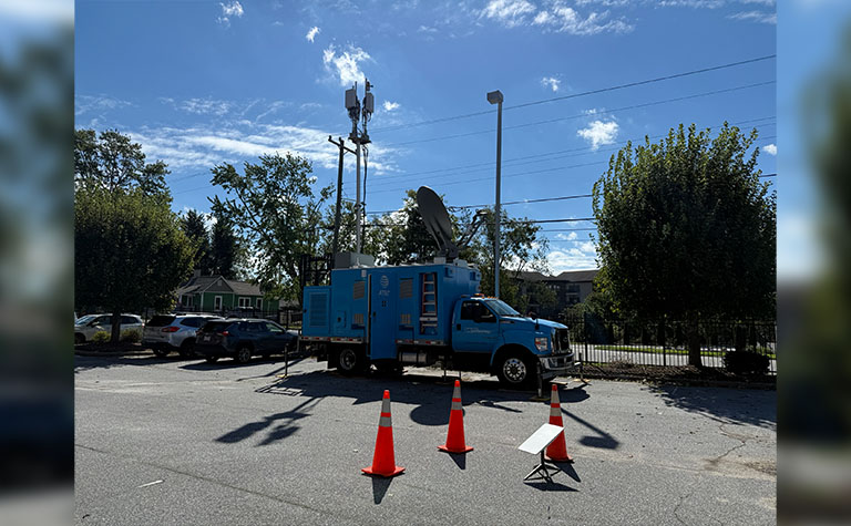
POLYGON ((113 314, 113 342, 122 312, 173 307, 194 248, 162 195, 96 187, 74 194, 75 300, 113 314))

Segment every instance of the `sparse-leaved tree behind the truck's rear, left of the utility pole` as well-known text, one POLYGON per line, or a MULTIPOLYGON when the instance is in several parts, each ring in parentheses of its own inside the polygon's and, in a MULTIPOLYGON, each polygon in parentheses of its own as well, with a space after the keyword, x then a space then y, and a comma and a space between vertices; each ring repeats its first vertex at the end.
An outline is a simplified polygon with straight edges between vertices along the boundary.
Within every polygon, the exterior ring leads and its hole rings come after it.
POLYGON ((213 213, 245 240, 257 283, 269 297, 300 301, 300 258, 319 248, 331 187, 315 193, 310 162, 289 153, 262 155, 258 164, 245 163, 243 174, 227 163, 212 172, 212 183, 227 193, 209 199, 213 213))

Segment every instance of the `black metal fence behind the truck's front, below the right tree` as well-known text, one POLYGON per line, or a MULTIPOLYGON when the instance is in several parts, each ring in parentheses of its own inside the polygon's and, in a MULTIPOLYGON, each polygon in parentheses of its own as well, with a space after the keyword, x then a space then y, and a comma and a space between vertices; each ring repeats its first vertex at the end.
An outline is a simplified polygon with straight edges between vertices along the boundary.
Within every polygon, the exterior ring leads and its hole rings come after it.
MULTIPOLYGON (((585 362, 688 365, 688 330, 683 321, 637 322, 593 316, 561 321, 570 328, 573 348, 582 352, 585 362)), ((767 357, 769 374, 777 374, 773 320, 699 322, 698 336, 705 367, 725 368, 728 353, 739 350, 767 357)))

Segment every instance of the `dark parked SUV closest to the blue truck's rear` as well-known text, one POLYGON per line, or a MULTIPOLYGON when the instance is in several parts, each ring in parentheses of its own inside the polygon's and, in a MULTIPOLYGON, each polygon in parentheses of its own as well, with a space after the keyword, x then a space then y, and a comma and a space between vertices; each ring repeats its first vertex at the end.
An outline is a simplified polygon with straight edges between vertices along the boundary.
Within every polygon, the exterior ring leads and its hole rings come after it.
POLYGON ((208 321, 198 330, 195 353, 208 362, 222 357, 233 357, 245 363, 253 355, 268 357, 286 350, 295 350, 298 336, 279 324, 256 318, 208 321))

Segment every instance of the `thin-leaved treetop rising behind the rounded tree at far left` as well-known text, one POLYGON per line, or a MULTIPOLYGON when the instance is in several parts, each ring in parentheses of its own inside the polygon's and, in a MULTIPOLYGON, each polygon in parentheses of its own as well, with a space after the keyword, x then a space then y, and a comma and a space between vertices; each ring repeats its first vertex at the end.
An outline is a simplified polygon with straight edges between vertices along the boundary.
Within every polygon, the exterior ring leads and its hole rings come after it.
POLYGON ((110 193, 140 188, 146 195, 167 195, 162 161, 145 163, 139 143, 115 130, 74 131, 74 186, 103 188, 110 193))

